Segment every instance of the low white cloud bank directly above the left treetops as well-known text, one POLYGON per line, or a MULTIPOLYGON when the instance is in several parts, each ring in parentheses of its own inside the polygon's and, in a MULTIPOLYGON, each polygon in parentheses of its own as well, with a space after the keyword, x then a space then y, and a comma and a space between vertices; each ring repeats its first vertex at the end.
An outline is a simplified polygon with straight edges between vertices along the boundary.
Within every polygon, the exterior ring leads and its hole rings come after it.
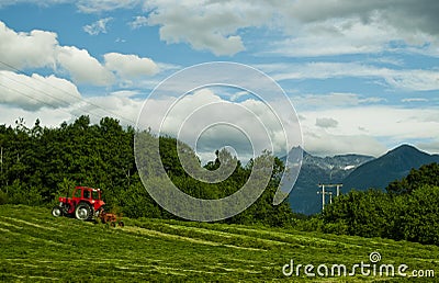
MULTIPOLYGON (((30 78, 30 80, 35 83, 34 79, 30 78)), ((47 88, 48 83, 46 82, 41 87, 47 88)), ((15 120, 23 117, 26 125, 32 126, 33 122, 40 118, 42 125, 52 127, 59 126, 64 121, 71 123, 81 115, 89 115, 91 123, 94 124, 98 124, 102 117, 111 116, 119 120, 124 126, 135 126, 137 114, 144 102, 133 98, 137 94, 133 91, 119 91, 93 98, 81 97, 80 99, 75 99, 71 97, 74 95, 72 90, 68 88, 61 89, 61 86, 54 84, 53 81, 49 83, 50 86, 57 86, 59 93, 56 93, 56 89, 52 88, 45 89, 44 92, 38 92, 37 97, 35 97, 35 90, 30 91, 30 97, 19 95, 13 91, 12 94, 15 97, 9 98, 9 102, 1 101, 3 99, 1 97, 0 121, 7 125, 13 125, 15 120), (66 91, 60 91, 59 89, 66 91), (50 91, 53 91, 53 97, 57 95, 56 99, 47 95, 50 91), (71 95, 68 95, 67 92, 71 95), (35 101, 34 98, 38 98, 38 101, 35 101), (61 100, 66 101, 66 103, 61 100), (58 105, 55 107, 56 103, 58 105), (27 104, 27 106, 23 104, 27 104)))

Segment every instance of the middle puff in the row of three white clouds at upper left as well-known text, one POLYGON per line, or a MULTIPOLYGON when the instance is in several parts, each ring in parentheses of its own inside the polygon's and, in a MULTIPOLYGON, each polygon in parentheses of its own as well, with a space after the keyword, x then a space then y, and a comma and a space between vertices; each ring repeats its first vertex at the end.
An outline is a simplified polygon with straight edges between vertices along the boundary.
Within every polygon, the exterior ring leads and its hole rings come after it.
POLYGON ((57 49, 57 61, 78 83, 94 86, 109 86, 114 81, 114 76, 105 69, 86 49, 74 46, 60 46, 57 49))

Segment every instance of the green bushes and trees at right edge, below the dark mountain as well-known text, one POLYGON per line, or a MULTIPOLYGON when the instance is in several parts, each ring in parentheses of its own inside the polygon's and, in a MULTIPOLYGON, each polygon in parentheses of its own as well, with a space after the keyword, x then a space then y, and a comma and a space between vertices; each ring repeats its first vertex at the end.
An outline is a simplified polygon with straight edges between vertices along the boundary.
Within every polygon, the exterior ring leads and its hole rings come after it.
POLYGON ((391 183, 389 193, 351 191, 325 207, 325 230, 439 245, 439 167, 427 165, 391 183))

